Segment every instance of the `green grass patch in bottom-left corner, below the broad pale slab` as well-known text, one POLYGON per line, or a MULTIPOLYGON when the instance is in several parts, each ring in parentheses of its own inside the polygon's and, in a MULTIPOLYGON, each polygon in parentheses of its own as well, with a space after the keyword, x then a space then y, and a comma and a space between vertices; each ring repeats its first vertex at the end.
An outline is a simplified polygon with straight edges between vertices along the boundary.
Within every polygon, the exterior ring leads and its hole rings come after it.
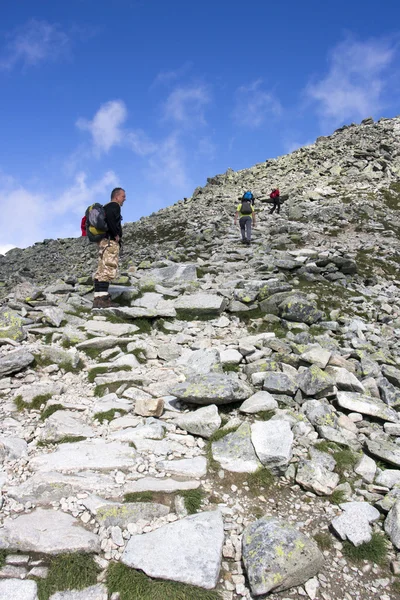
POLYGON ((51 559, 46 579, 37 579, 39 600, 49 600, 55 592, 83 590, 97 583, 100 569, 92 556, 61 554, 51 559))

